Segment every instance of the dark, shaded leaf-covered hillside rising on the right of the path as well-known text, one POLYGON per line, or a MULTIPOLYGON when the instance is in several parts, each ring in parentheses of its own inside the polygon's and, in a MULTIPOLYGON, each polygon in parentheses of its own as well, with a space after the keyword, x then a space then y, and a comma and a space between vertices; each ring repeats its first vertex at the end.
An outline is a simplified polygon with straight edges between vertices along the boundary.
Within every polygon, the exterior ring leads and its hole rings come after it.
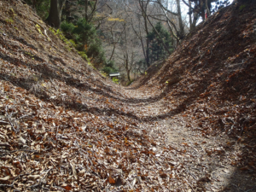
POLYGON ((161 67, 149 67, 133 84, 160 90, 154 98, 166 105, 172 101, 171 110, 158 118, 183 113, 188 127, 255 142, 254 10, 254 4, 239 3, 220 9, 190 32, 161 67))

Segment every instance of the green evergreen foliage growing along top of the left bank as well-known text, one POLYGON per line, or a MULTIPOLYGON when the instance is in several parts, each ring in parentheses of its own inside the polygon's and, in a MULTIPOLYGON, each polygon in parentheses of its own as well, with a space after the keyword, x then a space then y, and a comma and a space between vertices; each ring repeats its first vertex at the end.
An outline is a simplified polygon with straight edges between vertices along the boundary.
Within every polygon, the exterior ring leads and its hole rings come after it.
MULTIPOLYGON (((38 15, 45 20, 49 15, 50 0, 24 0, 28 5, 36 9, 38 15)), ((78 4, 83 4, 84 1, 77 1, 78 4)), ((73 46, 79 50, 79 55, 83 55, 83 58, 87 61, 94 63, 94 67, 109 68, 110 73, 116 72, 116 68, 112 65, 109 66, 106 61, 104 50, 102 49, 102 43, 96 33, 96 27, 87 22, 82 15, 77 17, 71 13, 73 3, 67 2, 62 12, 61 31, 67 39, 73 44, 73 46), (86 57, 84 56, 86 55, 86 57)), ((94 2, 89 3, 90 7, 94 6, 94 2)), ((106 71, 106 68, 104 71, 106 71)), ((107 70, 108 71, 108 70, 107 70)))

